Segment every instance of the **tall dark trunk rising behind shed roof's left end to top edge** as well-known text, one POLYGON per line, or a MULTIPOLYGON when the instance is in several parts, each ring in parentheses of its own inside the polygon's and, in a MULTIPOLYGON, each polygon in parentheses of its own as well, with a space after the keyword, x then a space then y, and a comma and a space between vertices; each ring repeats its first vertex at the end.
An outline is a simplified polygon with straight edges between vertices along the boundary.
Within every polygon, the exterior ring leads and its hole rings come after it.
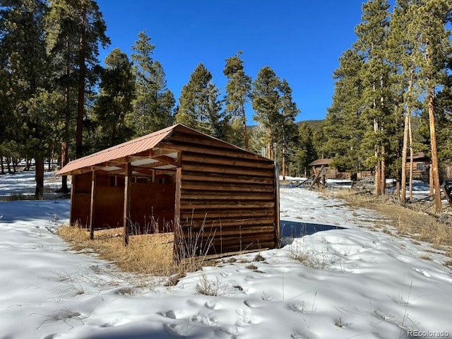
POLYGON ((83 115, 85 113, 85 76, 86 76, 86 4, 81 1, 81 35, 78 49, 78 109, 77 109, 77 127, 76 127, 76 157, 83 156, 83 115))

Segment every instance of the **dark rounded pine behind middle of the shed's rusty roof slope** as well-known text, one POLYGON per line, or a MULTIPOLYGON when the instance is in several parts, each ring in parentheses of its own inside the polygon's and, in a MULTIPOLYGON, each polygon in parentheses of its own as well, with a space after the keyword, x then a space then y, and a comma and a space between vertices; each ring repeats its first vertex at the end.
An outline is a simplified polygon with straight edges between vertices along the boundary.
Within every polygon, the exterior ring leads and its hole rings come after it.
POLYGON ((132 111, 135 77, 127 54, 113 49, 105 58, 94 120, 99 128, 97 147, 108 148, 129 140, 132 131, 125 124, 132 111))

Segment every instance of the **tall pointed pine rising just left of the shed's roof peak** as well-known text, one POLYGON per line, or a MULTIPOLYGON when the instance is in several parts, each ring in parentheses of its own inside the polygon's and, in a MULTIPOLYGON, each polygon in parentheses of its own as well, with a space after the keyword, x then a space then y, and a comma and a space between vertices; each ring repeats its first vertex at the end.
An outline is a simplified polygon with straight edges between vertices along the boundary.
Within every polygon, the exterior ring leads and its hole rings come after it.
POLYGON ((138 40, 132 46, 133 71, 136 76, 136 99, 133 113, 127 119, 136 129, 136 136, 142 136, 172 124, 174 95, 167 88, 162 64, 153 60, 155 45, 145 32, 138 33, 138 40))

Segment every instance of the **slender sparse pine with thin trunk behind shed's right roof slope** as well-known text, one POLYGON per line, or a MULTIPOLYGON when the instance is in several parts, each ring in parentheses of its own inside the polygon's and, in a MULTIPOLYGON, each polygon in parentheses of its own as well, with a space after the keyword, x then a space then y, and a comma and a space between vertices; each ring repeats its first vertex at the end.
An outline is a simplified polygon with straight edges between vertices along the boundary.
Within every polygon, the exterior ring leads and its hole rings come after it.
POLYGON ((237 125, 242 125, 242 142, 239 145, 246 150, 249 148, 248 134, 246 130, 246 102, 251 96, 251 77, 244 72, 243 60, 240 59, 242 52, 226 59, 223 73, 227 76, 226 85, 226 112, 232 116, 232 121, 237 121, 237 125))

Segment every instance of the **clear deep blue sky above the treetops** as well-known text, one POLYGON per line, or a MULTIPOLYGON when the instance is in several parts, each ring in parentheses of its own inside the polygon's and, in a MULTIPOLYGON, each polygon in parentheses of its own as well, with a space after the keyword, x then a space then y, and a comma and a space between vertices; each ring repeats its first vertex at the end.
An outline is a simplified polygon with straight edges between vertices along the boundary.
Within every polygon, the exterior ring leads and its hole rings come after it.
MULTIPOLYGON (((131 54, 138 32, 155 44, 167 85, 179 99, 199 63, 225 93, 225 59, 243 52, 245 72, 256 78, 270 66, 285 78, 301 109, 297 121, 323 119, 331 105, 338 58, 356 41, 362 0, 97 0, 114 48, 131 54)), ((248 124, 254 112, 248 108, 248 124)))

